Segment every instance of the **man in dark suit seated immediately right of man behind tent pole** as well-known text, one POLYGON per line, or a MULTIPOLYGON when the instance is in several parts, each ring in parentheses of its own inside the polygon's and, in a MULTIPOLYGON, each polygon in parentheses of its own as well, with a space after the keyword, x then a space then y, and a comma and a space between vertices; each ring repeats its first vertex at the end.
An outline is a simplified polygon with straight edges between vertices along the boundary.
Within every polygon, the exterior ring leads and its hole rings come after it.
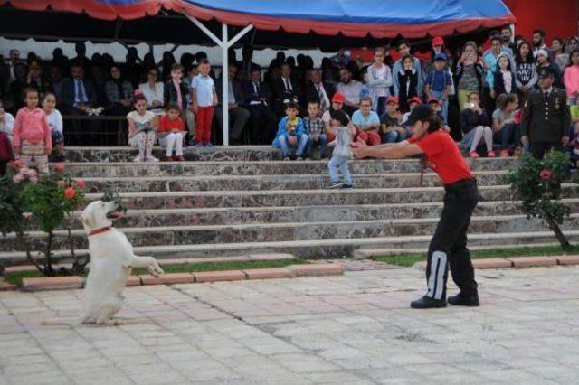
POLYGON ((271 109, 271 88, 261 81, 261 70, 252 70, 251 80, 243 82, 243 97, 250 110, 250 140, 252 145, 271 143, 275 136, 277 119, 271 109))

